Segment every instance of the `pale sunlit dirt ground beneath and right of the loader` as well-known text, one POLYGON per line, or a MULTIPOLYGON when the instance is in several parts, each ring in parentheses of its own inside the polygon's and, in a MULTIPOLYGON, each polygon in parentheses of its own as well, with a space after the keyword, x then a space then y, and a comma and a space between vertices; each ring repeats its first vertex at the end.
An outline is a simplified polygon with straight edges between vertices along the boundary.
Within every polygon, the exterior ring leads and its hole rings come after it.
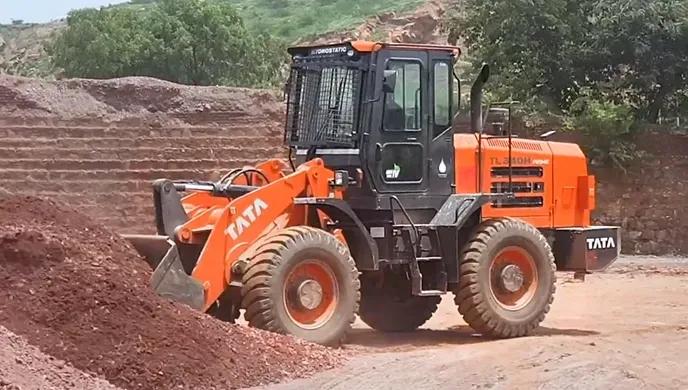
POLYGON ((688 388, 688 259, 625 257, 585 283, 558 277, 534 336, 475 337, 446 297, 424 329, 359 323, 346 366, 268 389, 688 388))

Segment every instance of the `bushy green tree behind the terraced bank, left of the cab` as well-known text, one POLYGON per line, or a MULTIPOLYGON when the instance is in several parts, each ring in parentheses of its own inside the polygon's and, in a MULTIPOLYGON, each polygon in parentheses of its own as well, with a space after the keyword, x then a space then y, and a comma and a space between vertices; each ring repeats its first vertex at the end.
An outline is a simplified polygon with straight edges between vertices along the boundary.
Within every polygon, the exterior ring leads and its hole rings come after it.
POLYGON ((280 77, 281 44, 254 37, 225 1, 162 0, 73 11, 50 45, 67 77, 152 76, 195 85, 268 86, 280 77))

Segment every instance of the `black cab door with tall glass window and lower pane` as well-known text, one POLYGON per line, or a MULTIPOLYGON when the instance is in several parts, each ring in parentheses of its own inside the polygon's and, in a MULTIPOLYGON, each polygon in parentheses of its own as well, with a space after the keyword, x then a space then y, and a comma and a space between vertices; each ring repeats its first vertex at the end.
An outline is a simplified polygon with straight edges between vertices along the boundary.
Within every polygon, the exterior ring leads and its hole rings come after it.
MULTIPOLYGON (((428 56, 421 51, 383 51, 378 57, 380 101, 371 123, 368 161, 382 193, 416 193, 428 188, 428 56), (384 92, 382 70, 394 71, 393 92, 384 92)), ((388 72, 389 73, 389 72, 388 72)))

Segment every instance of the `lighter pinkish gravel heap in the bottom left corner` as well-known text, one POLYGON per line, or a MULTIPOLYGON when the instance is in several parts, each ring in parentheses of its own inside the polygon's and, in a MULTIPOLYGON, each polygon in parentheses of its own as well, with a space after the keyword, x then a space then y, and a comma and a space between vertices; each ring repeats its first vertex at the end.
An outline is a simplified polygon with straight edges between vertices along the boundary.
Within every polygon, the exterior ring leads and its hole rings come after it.
POLYGON ((44 354, 2 326, 0 345, 0 389, 118 389, 102 379, 44 354))

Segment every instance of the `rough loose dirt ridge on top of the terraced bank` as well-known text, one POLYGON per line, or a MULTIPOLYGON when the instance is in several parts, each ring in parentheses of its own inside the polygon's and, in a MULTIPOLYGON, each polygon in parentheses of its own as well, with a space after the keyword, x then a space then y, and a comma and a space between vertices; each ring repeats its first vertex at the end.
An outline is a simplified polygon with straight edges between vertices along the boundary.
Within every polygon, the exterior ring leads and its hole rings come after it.
POLYGON ((197 87, 149 77, 47 81, 0 75, 5 123, 58 118, 154 127, 227 125, 250 116, 280 121, 282 112, 274 92, 266 90, 197 87))

